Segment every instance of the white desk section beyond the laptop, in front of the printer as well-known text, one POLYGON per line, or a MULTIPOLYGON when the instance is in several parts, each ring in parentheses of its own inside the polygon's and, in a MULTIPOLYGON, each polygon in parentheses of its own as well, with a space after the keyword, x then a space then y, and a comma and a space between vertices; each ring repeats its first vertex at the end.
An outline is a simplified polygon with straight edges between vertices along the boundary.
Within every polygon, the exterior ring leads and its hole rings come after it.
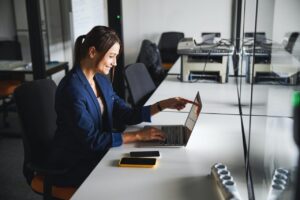
MULTIPOLYGON (((203 113, 239 114, 237 86, 234 78, 229 78, 229 82, 225 84, 184 83, 180 82, 176 75, 168 75, 148 99, 146 105, 176 96, 194 100, 197 91, 200 92, 203 113)), ((188 104, 182 112, 189 112, 190 107, 191 105, 188 104)))

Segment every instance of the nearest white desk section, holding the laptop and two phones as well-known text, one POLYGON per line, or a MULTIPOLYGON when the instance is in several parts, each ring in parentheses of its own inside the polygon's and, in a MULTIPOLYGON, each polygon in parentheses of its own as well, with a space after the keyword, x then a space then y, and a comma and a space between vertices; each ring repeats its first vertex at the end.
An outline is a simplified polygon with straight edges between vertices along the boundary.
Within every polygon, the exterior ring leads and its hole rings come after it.
MULTIPOLYGON (((161 112, 152 121, 183 124, 186 116, 161 112)), ((228 166, 241 196, 248 199, 239 116, 201 114, 188 146, 159 148, 161 158, 154 169, 117 167, 118 160, 133 150, 141 148, 123 145, 109 150, 72 199, 219 199, 209 176, 216 162, 228 166)))

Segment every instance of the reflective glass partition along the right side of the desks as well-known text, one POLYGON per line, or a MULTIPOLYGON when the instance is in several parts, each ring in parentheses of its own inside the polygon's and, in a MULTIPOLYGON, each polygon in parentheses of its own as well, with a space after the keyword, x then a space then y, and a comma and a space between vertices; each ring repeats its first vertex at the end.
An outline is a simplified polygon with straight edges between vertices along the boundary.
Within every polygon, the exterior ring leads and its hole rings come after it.
POLYGON ((298 149, 291 98, 300 84, 300 1, 245 4, 239 86, 253 195, 294 199, 298 149))

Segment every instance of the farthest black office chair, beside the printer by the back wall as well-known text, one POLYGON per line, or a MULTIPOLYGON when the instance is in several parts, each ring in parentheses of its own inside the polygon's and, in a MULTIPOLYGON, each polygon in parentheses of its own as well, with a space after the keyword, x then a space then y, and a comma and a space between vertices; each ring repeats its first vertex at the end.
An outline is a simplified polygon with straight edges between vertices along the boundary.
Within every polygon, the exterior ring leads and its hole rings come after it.
POLYGON ((160 50, 162 65, 165 69, 170 69, 178 59, 177 45, 184 38, 182 32, 164 32, 161 34, 158 48, 160 50))

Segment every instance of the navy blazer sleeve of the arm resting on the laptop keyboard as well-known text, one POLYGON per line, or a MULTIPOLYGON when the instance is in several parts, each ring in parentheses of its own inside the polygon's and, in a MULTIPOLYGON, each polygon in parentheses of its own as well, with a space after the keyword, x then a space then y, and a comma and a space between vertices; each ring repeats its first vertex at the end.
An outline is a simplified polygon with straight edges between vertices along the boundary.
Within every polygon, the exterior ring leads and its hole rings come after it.
POLYGON ((103 132, 94 122, 90 111, 87 110, 86 97, 80 95, 78 88, 68 90, 71 116, 76 126, 75 135, 80 142, 92 151, 103 151, 111 146, 122 144, 121 133, 103 132))

